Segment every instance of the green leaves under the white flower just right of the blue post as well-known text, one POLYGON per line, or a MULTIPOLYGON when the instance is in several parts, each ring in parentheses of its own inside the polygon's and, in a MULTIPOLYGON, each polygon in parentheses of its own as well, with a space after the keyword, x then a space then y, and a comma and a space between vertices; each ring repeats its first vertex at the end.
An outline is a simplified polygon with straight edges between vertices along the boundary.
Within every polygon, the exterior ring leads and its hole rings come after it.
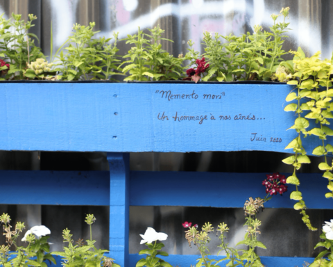
POLYGON ((137 261, 137 264, 135 267, 157 267, 157 266, 163 266, 163 267, 171 267, 171 265, 164 261, 163 259, 160 259, 159 257, 156 257, 157 255, 160 256, 169 256, 167 252, 161 251, 162 248, 164 248, 163 243, 146 243, 145 244, 148 248, 144 250, 140 250, 139 255, 146 254, 146 259, 140 259, 137 261))

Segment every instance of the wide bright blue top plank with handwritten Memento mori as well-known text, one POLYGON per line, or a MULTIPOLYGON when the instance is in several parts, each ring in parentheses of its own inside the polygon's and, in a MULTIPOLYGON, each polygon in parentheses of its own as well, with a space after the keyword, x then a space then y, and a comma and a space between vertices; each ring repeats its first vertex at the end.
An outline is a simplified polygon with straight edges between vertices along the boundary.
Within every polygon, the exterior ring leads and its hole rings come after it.
MULTIPOLYGON (((284 84, 1 83, 0 150, 285 152, 296 137, 296 131, 286 131, 296 117, 283 111, 291 89, 284 84)), ((303 143, 309 153, 321 145, 317 139, 308 136, 303 143)))

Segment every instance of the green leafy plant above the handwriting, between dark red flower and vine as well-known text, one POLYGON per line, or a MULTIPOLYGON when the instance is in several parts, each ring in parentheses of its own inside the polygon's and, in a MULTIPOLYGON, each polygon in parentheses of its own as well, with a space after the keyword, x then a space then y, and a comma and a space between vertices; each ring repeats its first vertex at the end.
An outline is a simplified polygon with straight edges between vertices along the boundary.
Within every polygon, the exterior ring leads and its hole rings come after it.
MULTIPOLYGON (((246 33, 241 37, 231 34, 223 36, 219 33, 215 33, 213 37, 211 33, 205 32, 205 53, 202 56, 210 64, 210 68, 203 81, 268 81, 270 78, 289 81, 290 62, 279 66, 281 57, 287 54, 282 49, 282 38, 287 37, 284 33, 289 25, 285 22, 288 15, 289 8, 282 8, 280 15, 273 14, 273 26, 269 32, 262 32, 262 26, 257 25, 253 34, 246 33), (280 16, 283 17, 282 22, 278 22, 280 16), (225 43, 221 42, 221 38, 225 39, 225 43), (276 70, 278 71, 274 74, 276 70)), ((193 43, 189 43, 190 47, 191 44, 193 43)), ((190 48, 187 59, 193 65, 196 58, 198 52, 190 48)))

